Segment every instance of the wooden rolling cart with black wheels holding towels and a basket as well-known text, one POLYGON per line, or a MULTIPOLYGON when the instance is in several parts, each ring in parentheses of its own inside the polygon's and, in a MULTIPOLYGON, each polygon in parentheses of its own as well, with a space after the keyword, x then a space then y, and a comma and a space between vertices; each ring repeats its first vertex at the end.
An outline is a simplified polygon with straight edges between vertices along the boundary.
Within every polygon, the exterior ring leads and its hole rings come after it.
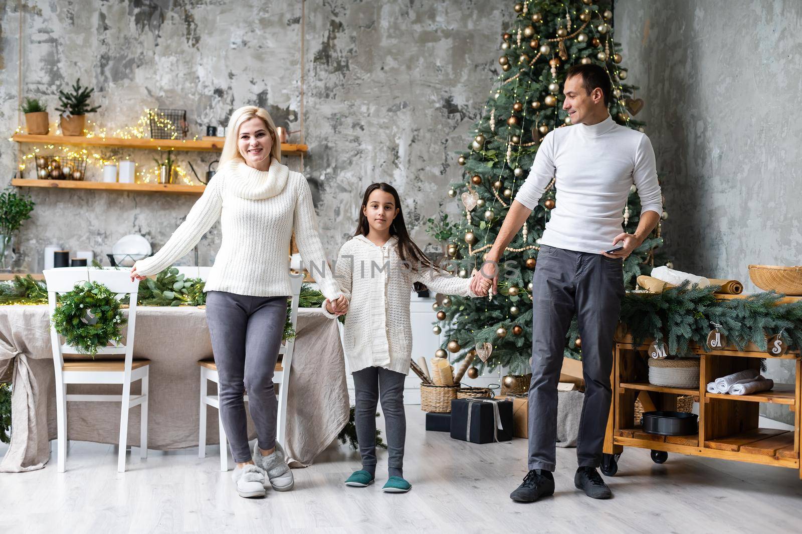
POLYGON ((755 346, 738 351, 735 347, 706 352, 693 347, 700 356, 699 387, 662 387, 649 383, 648 343, 634 345, 629 335, 617 340, 614 349, 613 402, 604 445, 602 472, 613 476, 623 448, 651 450, 657 464, 666 461, 669 452, 693 456, 739 460, 754 464, 800 469, 800 407, 802 407, 802 355, 788 351, 777 359, 795 361, 794 383, 775 383, 772 391, 753 395, 721 395, 707 392, 707 383, 744 369, 758 369, 759 359, 772 359, 755 346), (634 420, 635 399, 644 412, 674 410, 679 395, 692 395, 699 402, 699 432, 691 436, 654 436, 642 432, 634 420), (794 412, 794 430, 759 428, 759 403, 784 404, 794 412))

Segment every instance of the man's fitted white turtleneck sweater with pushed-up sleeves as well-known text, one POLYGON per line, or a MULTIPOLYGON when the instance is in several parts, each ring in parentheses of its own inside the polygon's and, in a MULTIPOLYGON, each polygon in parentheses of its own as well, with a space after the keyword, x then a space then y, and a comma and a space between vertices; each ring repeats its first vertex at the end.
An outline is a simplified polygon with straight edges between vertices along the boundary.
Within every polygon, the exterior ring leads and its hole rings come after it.
POLYGON ((649 138, 619 126, 610 115, 591 126, 550 131, 515 199, 534 209, 553 178, 557 206, 541 239, 549 247, 593 254, 613 248, 613 239, 623 231, 623 211, 633 183, 641 213, 662 213, 649 138))

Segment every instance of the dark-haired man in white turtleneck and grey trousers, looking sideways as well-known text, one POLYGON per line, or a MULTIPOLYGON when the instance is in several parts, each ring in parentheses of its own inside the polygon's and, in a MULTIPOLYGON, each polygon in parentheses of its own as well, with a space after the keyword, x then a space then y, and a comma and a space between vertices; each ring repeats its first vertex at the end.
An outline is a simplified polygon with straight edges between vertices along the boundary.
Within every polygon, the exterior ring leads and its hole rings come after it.
POLYGON ((510 494, 533 502, 553 495, 556 467, 557 383, 565 335, 574 313, 582 339, 585 401, 574 476, 594 499, 612 496, 596 471, 610 412, 613 335, 624 295, 622 260, 646 239, 662 213, 654 151, 646 135, 618 126, 607 111, 610 78, 596 65, 576 65, 565 79, 563 109, 573 126, 549 132, 504 219, 472 289, 492 278, 504 249, 555 178, 557 206, 546 223, 533 277, 532 383, 529 386, 529 473, 510 494), (622 233, 632 184, 642 211, 634 235, 622 233))

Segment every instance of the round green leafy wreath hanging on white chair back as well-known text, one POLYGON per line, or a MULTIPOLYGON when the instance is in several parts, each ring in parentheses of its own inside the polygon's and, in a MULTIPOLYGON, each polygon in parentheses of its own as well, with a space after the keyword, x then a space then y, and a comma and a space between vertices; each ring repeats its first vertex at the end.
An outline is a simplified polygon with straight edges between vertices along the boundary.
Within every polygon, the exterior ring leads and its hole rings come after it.
POLYGON ((52 319, 68 345, 92 357, 110 341, 123 339, 120 327, 126 320, 116 295, 97 282, 76 283, 59 298, 52 319))

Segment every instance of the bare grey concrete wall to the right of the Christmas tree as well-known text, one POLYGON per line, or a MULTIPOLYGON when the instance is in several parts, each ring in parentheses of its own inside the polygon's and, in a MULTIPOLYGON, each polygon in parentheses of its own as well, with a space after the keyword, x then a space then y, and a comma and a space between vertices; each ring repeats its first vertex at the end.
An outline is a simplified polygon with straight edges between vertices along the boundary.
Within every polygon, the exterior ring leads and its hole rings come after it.
MULTIPOLYGON (((734 277, 802 256, 802 2, 616 2, 616 36, 646 102, 667 209, 667 249, 683 271, 734 277)), ((790 362, 769 376, 793 382, 790 362)), ((784 406, 764 415, 792 423, 784 406)))

